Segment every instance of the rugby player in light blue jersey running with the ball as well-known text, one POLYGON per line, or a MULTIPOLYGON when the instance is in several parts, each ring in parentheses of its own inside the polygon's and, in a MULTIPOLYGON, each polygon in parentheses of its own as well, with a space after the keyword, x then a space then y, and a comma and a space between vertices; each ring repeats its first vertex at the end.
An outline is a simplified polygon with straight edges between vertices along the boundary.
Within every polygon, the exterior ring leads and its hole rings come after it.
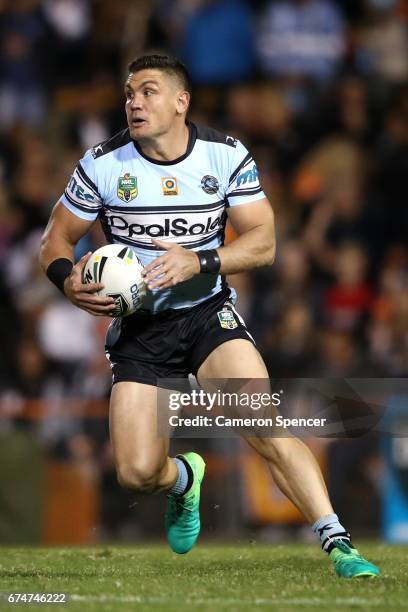
MULTIPOLYGON (((119 483, 166 490, 170 547, 186 553, 200 531, 205 464, 194 452, 168 456, 157 435, 157 379, 267 379, 268 372, 235 311, 225 275, 272 264, 272 207, 255 162, 241 142, 186 118, 188 72, 177 59, 139 57, 125 83, 127 129, 86 152, 44 232, 40 261, 76 306, 109 315, 113 299, 84 284, 90 256, 74 247, 99 219, 110 243, 132 247, 150 292, 143 309, 114 319, 106 340, 113 372, 110 434, 119 483), (228 216, 238 237, 223 245, 228 216)), ((301 510, 339 576, 375 576, 329 501, 320 469, 300 440, 248 438, 284 494, 301 510)))

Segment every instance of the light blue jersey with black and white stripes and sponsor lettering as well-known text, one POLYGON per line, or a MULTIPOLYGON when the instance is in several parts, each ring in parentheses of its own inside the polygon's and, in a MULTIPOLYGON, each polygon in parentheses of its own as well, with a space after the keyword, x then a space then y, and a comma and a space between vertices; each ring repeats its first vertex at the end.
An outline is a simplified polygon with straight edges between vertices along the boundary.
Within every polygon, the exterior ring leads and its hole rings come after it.
MULTIPOLYGON (((162 254, 159 238, 198 251, 224 244, 226 209, 265 197, 256 164, 232 136, 189 124, 178 159, 148 158, 129 130, 86 152, 61 197, 82 219, 99 218, 109 243, 133 247, 144 265, 162 254)), ((171 289, 149 292, 143 308, 188 308, 221 291, 221 275, 198 274, 171 289)))

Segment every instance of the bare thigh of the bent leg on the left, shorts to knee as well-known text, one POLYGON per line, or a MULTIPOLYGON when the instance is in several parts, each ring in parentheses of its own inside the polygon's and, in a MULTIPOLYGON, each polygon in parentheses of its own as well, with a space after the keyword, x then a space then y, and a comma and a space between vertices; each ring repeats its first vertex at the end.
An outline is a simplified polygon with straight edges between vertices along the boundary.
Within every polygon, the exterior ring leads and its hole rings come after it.
POLYGON ((157 431, 157 388, 137 382, 118 382, 112 388, 109 427, 115 463, 159 470, 169 440, 157 431))

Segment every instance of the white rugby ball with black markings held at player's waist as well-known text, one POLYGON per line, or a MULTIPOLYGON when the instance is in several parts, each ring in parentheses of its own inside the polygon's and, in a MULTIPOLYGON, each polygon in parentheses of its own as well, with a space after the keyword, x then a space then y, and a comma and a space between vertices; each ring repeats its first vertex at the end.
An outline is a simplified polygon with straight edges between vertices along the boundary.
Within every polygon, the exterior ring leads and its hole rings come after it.
POLYGON ((146 295, 142 276, 143 264, 131 247, 107 244, 94 253, 86 263, 84 283, 102 283, 97 295, 115 300, 114 317, 126 317, 138 310, 146 295))

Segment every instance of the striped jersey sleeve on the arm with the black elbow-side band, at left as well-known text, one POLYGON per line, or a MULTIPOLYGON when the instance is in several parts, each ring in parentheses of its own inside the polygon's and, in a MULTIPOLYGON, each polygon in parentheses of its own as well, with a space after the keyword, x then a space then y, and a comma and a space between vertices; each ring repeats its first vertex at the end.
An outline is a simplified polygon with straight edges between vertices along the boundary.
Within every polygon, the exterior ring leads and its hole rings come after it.
POLYGON ((95 160, 91 150, 78 162, 60 201, 74 215, 94 221, 102 207, 97 187, 95 160))

